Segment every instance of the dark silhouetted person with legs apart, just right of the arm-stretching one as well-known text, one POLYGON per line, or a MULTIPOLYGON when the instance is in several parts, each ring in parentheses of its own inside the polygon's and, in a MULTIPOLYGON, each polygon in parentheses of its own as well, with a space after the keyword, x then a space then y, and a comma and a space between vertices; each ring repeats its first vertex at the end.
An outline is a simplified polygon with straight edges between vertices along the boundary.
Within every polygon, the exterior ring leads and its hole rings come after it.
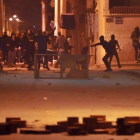
POLYGON ((117 59, 118 67, 121 68, 120 60, 119 60, 119 56, 118 56, 118 52, 117 52, 117 49, 119 49, 119 51, 121 51, 121 49, 120 49, 120 46, 118 44, 118 41, 115 40, 115 35, 111 35, 111 40, 109 41, 109 44, 110 44, 110 47, 111 47, 111 50, 112 50, 112 55, 110 57, 110 65, 111 65, 112 57, 114 55, 117 59), (116 48, 116 46, 118 48, 116 48))

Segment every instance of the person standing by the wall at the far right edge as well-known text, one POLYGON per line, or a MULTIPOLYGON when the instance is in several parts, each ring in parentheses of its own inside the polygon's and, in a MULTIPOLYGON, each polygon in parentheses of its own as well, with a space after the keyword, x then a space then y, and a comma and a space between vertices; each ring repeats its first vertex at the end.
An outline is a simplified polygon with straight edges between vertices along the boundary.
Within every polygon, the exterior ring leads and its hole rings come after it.
POLYGON ((135 30, 131 34, 132 45, 135 50, 135 62, 138 62, 139 37, 140 37, 139 27, 136 27, 135 30))

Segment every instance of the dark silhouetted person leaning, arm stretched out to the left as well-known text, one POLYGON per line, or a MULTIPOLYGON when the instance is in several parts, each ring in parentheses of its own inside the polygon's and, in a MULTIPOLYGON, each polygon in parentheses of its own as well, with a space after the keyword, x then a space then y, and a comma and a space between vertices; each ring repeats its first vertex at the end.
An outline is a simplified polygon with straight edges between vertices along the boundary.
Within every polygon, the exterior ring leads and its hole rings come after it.
POLYGON ((104 40, 104 36, 100 36, 99 39, 100 39, 100 43, 91 45, 91 47, 95 47, 97 45, 102 45, 103 46, 103 48, 106 51, 106 55, 102 59, 103 62, 105 63, 105 65, 106 65, 106 68, 107 68, 105 71, 112 71, 110 63, 108 62, 108 58, 110 58, 112 56, 112 50, 110 48, 110 45, 107 41, 104 40))

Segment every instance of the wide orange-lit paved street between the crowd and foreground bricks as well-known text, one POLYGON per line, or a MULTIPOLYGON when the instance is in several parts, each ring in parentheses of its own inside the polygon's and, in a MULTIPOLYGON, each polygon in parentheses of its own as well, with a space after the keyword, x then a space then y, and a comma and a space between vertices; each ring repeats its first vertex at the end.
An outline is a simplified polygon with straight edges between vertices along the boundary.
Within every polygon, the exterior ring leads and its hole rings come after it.
MULTIPOLYGON (((140 116, 140 67, 124 65, 121 69, 113 66, 112 72, 103 72, 102 67, 90 67, 90 79, 34 79, 33 71, 20 67, 0 73, 0 122, 6 117, 21 117, 28 125, 43 128, 46 124, 56 124, 69 116, 83 117, 106 115, 115 122, 118 117, 140 116), (35 120, 39 120, 35 122, 35 120)), ((41 70, 41 74, 53 76, 54 71, 41 70)), ((59 75, 59 73, 58 73, 59 75)), ((140 135, 111 136, 88 135, 68 137, 66 134, 48 136, 10 135, 0 136, 0 140, 45 140, 61 139, 132 139, 140 135)))

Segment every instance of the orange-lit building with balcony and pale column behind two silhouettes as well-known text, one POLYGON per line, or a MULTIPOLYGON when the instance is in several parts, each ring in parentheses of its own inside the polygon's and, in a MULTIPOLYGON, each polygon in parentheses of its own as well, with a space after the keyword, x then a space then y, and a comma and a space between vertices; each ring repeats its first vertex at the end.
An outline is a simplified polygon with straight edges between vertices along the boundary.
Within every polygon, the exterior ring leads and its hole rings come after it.
MULTIPOLYGON (((90 3, 89 0, 87 2, 90 3)), ((92 3, 95 4, 93 5, 95 9, 93 13, 88 13, 90 15, 88 21, 94 19, 93 27, 89 27, 94 35, 94 43, 99 42, 101 35, 104 35, 105 39, 109 41, 110 36, 114 34, 121 47, 121 51, 118 52, 121 62, 134 61, 134 48, 130 36, 135 27, 140 27, 140 1, 92 0, 92 3)), ((104 54, 103 48, 97 47, 94 52, 96 64, 102 64, 104 54)))

